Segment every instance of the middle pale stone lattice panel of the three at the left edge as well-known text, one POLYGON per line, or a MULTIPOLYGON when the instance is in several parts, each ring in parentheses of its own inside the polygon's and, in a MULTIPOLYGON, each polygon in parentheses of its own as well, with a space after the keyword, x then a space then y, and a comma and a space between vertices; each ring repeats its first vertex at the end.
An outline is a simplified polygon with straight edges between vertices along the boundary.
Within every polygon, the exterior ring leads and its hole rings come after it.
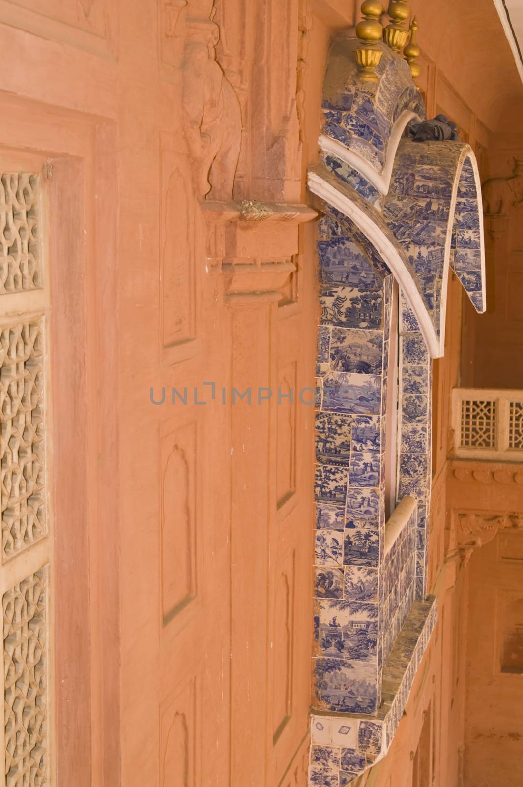
POLYGON ((0 331, 2 560, 46 534, 42 320, 0 331))

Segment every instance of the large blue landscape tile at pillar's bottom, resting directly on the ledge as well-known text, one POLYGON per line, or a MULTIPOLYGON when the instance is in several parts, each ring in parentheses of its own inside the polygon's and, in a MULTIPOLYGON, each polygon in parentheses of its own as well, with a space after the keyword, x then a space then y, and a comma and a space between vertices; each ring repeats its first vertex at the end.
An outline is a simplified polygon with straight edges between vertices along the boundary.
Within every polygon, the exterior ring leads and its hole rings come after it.
POLYGON ((340 713, 376 711, 377 674, 372 663, 315 659, 315 706, 340 713))

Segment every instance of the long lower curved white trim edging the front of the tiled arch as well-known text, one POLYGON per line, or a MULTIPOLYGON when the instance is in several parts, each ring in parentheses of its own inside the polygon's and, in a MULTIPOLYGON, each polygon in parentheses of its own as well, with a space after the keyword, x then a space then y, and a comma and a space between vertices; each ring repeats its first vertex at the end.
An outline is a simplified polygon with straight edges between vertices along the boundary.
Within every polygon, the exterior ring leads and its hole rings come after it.
POLYGON ((344 197, 343 194, 340 194, 340 192, 331 186, 330 183, 326 183, 326 181, 316 172, 308 173, 308 187, 313 194, 317 194, 318 197, 324 199, 329 205, 332 205, 333 208, 336 208, 343 213, 344 216, 354 221, 357 227, 359 227, 366 237, 369 238, 374 248, 381 254, 381 257, 383 257, 385 263, 389 266, 392 274, 400 284, 403 294, 407 298, 416 316, 416 320, 418 320, 430 356, 433 358, 440 358, 443 355, 441 348, 444 345, 440 345, 438 341, 436 330, 430 319, 429 312, 425 307, 422 295, 414 279, 412 279, 411 275, 407 272, 407 268, 405 268, 405 264, 396 247, 390 242, 389 238, 380 227, 374 224, 370 216, 363 212, 354 202, 344 197))

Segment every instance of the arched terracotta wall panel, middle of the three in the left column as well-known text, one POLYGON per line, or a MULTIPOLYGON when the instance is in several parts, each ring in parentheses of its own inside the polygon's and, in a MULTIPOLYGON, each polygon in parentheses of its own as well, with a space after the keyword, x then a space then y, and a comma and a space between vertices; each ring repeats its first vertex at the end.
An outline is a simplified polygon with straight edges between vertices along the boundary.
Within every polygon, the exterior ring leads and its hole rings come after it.
POLYGON ((196 465, 195 423, 162 438, 160 571, 164 625, 174 619, 197 592, 196 465))

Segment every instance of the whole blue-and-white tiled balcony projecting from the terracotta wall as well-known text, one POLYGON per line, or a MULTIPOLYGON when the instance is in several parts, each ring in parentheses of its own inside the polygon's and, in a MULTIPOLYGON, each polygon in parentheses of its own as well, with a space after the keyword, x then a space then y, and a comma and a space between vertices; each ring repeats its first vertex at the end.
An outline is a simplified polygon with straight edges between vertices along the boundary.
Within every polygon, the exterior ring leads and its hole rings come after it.
POLYGON ((408 125, 425 108, 407 63, 378 44, 378 80, 363 81, 356 46, 340 39, 330 50, 322 161, 308 176, 322 210, 309 778, 330 787, 385 756, 437 619, 425 595, 431 383, 433 358, 444 353, 449 268, 485 309, 473 151, 413 142, 408 125), (386 477, 397 478, 388 521, 386 477))

